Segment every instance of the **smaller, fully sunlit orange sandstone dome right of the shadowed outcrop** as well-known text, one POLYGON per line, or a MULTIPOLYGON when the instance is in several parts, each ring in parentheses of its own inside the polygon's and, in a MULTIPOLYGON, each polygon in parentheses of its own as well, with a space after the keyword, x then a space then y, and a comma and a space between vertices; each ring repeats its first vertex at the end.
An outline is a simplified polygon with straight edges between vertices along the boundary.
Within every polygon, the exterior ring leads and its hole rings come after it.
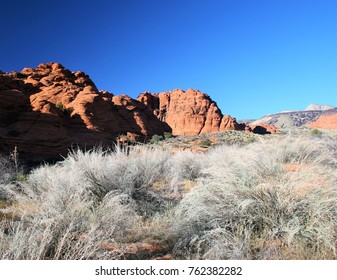
POLYGON ((229 115, 223 116, 214 101, 199 90, 186 92, 176 89, 150 94, 145 92, 137 98, 145 104, 157 118, 166 122, 173 135, 199 135, 223 130, 245 130, 229 115))

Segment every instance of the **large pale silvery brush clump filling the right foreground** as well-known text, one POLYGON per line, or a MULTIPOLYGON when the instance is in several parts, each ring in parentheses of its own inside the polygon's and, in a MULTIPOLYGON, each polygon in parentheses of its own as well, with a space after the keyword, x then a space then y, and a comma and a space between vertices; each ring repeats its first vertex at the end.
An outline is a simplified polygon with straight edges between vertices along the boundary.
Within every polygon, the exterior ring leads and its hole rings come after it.
POLYGON ((208 155, 204 179, 177 207, 177 257, 336 258, 332 139, 277 138, 208 155))

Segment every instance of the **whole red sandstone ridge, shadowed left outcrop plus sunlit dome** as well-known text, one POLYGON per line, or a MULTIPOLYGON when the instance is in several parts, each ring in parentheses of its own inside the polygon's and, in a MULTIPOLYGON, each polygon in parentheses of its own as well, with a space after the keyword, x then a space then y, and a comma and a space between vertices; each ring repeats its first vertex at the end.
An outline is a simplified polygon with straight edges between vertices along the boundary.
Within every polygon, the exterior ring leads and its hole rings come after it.
POLYGON ((198 90, 147 92, 135 100, 99 91, 87 74, 59 63, 0 72, 0 154, 17 147, 22 158, 39 162, 65 156, 71 147, 108 147, 121 135, 146 141, 164 132, 223 130, 251 131, 198 90))

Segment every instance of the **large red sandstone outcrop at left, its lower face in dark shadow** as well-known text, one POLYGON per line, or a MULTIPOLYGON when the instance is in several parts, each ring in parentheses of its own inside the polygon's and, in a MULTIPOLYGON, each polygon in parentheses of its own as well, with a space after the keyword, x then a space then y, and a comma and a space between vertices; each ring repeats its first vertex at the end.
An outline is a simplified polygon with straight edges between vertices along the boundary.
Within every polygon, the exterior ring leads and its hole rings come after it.
POLYGON ((0 153, 16 146, 26 160, 60 159, 71 147, 111 146, 121 134, 144 140, 170 131, 127 96, 98 91, 85 73, 59 63, 0 74, 0 153))

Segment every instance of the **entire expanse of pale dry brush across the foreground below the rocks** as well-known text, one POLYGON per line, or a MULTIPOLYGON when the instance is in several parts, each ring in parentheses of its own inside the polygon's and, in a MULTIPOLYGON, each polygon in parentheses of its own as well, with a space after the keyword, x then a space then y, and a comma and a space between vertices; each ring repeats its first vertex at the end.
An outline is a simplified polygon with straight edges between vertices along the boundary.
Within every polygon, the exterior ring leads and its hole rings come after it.
POLYGON ((247 142, 74 151, 20 182, 1 159, 0 259, 336 259, 336 140, 247 142))

